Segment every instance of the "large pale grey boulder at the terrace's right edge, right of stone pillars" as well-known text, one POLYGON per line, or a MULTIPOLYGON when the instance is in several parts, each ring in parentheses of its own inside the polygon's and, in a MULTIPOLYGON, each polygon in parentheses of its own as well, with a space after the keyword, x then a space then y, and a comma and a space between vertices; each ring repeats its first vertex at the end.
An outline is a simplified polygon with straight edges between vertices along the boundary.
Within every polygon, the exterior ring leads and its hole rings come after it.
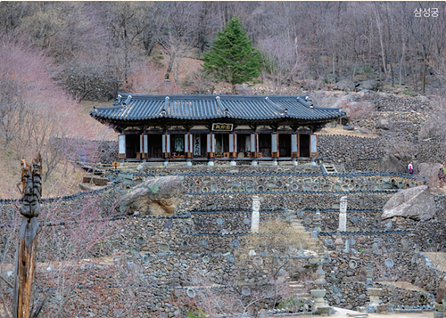
POLYGON ((427 221, 435 216, 436 211, 434 197, 429 188, 427 185, 420 185, 393 194, 385 203, 381 218, 384 220, 393 216, 404 216, 417 221, 427 221))

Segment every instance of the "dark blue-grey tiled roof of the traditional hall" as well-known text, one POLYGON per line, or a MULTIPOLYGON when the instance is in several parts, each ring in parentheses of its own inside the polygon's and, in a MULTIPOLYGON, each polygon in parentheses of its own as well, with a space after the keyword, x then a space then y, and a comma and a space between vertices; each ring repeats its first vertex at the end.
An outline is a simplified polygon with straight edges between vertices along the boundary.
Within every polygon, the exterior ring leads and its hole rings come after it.
POLYGON ((339 118, 337 108, 313 106, 307 95, 136 95, 120 94, 111 107, 95 107, 95 118, 140 121, 157 118, 265 120, 339 118))

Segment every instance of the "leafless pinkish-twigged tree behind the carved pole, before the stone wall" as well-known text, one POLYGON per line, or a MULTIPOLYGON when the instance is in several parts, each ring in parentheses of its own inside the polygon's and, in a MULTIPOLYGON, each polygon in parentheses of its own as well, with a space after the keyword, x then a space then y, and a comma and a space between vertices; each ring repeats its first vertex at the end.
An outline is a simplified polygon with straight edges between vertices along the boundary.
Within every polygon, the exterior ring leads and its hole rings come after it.
MULTIPOLYGON (((76 296, 76 293, 73 293, 76 285, 85 283, 86 278, 94 277, 97 272, 103 277, 120 272, 111 265, 97 265, 101 268, 100 271, 95 271, 96 265, 87 267, 87 271, 82 269, 88 262, 87 258, 92 257, 100 249, 101 242, 114 235, 121 225, 120 222, 108 222, 113 213, 103 216, 100 202, 96 198, 83 199, 82 204, 73 206, 77 208, 67 210, 60 202, 56 202, 44 207, 45 213, 39 217, 42 224, 54 224, 54 226, 41 226, 38 233, 39 245, 32 304, 34 309, 43 304, 38 309, 41 310, 40 316, 69 317, 70 314, 75 314, 70 313, 68 306, 76 296), (63 224, 60 224, 62 222, 63 224)), ((12 301, 11 268, 15 256, 19 218, 18 213, 0 216, 3 226, 0 235, 3 248, 3 253, 0 255, 0 277, 2 277, 0 310, 6 317, 11 316, 8 314, 12 301)), ((118 273, 113 277, 112 283, 125 284, 129 281, 127 278, 119 278, 118 273)), ((103 303, 107 303, 107 300, 103 299, 103 303)))

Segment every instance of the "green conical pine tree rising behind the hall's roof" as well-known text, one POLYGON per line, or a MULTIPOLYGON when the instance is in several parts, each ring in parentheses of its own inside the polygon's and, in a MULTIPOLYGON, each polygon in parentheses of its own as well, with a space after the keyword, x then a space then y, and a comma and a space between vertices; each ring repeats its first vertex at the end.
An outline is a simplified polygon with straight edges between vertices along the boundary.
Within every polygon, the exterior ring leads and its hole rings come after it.
POLYGON ((242 22, 233 18, 226 28, 217 34, 211 53, 204 53, 202 67, 219 80, 232 85, 251 82, 260 76, 260 53, 252 47, 242 29, 242 22))

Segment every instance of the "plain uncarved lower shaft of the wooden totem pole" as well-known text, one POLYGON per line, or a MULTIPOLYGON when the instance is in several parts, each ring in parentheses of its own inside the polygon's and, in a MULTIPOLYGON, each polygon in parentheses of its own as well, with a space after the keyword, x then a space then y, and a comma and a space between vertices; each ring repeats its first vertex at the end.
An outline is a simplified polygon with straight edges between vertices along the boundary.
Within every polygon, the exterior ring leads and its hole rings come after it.
POLYGON ((15 270, 12 293, 12 317, 29 318, 37 249, 37 218, 25 217, 21 220, 19 248, 17 249, 17 267, 15 270))

